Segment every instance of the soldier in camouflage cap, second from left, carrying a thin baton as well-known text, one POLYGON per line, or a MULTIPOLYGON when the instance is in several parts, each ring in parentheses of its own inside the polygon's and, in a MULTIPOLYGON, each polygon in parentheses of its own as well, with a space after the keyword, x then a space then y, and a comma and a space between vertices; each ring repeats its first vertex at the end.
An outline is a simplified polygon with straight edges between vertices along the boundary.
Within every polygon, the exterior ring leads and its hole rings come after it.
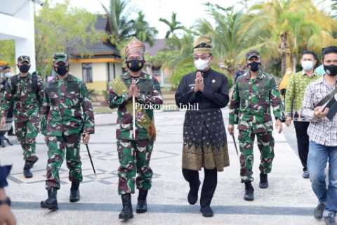
POLYGON ((41 207, 58 210, 58 171, 64 158, 70 170, 69 179, 72 181, 70 202, 79 201, 79 183, 82 181, 79 155, 81 134, 83 133, 84 143, 88 143, 90 134, 94 133, 94 117, 86 85, 68 72, 69 64, 65 53, 54 54, 53 69, 58 75, 46 84, 46 95, 41 109, 42 134, 46 136, 48 146, 48 199, 41 202, 41 207))

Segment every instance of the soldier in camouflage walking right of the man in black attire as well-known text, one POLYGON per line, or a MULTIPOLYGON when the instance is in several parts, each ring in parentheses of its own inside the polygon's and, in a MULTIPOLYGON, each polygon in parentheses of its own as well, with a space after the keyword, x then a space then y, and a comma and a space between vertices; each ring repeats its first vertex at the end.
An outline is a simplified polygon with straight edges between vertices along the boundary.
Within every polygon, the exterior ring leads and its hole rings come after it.
POLYGON ((238 124, 239 147, 241 151, 241 179, 246 192, 244 200, 253 200, 253 143, 257 136, 260 150, 260 188, 267 188, 267 174, 272 169, 274 158, 274 139, 272 137, 272 117, 270 106, 276 120, 276 128, 282 131, 282 100, 272 75, 260 70, 260 54, 249 51, 246 54, 249 72, 240 76, 234 86, 230 102, 230 122, 228 131, 234 134, 234 124, 238 124))

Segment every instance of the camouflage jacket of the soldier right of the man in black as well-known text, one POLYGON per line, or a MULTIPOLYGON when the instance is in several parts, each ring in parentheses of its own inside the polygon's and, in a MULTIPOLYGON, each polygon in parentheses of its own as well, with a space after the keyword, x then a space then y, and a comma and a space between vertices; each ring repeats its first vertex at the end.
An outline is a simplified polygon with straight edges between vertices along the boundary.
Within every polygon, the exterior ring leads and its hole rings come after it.
POLYGON ((254 133, 272 130, 272 106, 275 119, 282 120, 282 100, 274 77, 258 72, 250 79, 246 72, 237 79, 230 101, 230 124, 238 124, 239 130, 251 129, 254 133))

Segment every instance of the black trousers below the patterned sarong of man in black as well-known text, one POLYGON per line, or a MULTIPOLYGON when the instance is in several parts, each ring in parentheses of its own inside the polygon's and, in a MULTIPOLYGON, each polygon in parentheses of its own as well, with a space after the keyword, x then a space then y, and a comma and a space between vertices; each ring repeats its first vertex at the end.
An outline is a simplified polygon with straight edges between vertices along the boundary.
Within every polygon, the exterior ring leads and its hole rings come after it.
MULTIPOLYGON (((218 171, 216 169, 204 169, 204 173, 204 183, 202 184, 200 197, 201 207, 211 205, 213 194, 216 191, 216 184, 218 183, 218 171)), ((199 184, 199 171, 183 169, 183 176, 190 184, 190 188, 199 184)))

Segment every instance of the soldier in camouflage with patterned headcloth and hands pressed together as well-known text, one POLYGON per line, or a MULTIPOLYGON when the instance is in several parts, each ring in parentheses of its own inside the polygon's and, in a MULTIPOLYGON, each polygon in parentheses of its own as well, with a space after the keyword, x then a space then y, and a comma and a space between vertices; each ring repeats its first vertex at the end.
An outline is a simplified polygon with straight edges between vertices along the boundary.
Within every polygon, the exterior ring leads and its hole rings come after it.
POLYGON ((110 89, 109 106, 118 108, 118 192, 123 203, 119 219, 124 220, 133 217, 131 193, 135 193, 136 173, 136 186, 139 190, 136 212, 147 211, 146 197, 152 179, 149 164, 155 139, 153 108, 159 108, 163 103, 159 82, 142 71, 144 52, 145 46, 138 39, 133 39, 126 46, 125 57, 129 71, 114 79, 110 89), (133 96, 136 98, 136 127, 133 127, 133 96))

